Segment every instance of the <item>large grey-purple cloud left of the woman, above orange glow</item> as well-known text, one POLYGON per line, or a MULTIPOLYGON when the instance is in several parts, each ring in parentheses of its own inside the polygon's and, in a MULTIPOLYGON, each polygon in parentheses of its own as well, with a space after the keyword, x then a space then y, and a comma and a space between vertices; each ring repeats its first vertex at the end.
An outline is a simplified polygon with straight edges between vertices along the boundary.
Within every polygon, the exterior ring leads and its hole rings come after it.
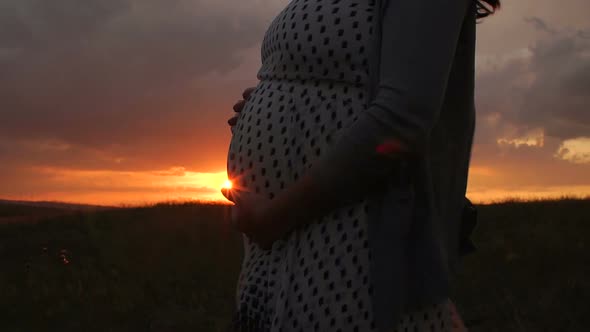
POLYGON ((221 105, 229 115, 242 88, 207 78, 243 62, 243 50, 261 41, 279 5, 2 1, 0 136, 61 140, 141 163, 178 157, 171 152, 178 142, 195 154, 207 150, 206 138, 227 137, 221 105))

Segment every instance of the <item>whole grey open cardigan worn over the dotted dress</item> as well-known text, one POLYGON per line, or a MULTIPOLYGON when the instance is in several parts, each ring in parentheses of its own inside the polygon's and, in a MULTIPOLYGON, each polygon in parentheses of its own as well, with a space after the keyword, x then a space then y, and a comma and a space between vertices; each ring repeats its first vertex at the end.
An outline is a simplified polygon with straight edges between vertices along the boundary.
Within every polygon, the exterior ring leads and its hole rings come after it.
POLYGON ((309 169, 332 207, 369 197, 379 331, 443 301, 475 129, 475 0, 377 0, 369 108, 309 169), (395 139, 405 153, 379 149, 395 139), (380 152, 379 152, 380 151, 380 152))

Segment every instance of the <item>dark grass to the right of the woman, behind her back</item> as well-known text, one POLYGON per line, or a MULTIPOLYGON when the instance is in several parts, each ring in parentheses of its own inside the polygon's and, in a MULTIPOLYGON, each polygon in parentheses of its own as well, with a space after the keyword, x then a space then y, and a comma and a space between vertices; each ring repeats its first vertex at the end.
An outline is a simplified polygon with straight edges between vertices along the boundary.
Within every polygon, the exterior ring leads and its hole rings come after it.
POLYGON ((455 300, 471 331, 590 331, 590 199, 478 206, 455 300))

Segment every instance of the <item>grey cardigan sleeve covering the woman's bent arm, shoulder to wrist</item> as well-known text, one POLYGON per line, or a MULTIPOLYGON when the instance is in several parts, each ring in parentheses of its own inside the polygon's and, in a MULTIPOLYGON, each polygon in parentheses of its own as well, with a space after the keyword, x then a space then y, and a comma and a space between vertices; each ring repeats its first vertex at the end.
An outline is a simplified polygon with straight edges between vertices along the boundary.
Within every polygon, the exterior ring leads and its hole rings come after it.
POLYGON ((353 202, 396 163, 426 153, 470 1, 391 0, 382 8, 375 97, 308 170, 318 197, 353 202))

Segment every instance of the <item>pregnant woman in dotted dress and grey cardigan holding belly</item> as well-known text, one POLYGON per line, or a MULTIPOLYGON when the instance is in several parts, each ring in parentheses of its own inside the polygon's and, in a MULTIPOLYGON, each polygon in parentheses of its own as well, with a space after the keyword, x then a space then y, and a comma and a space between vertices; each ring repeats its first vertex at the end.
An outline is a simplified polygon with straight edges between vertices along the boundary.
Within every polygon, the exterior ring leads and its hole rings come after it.
POLYGON ((230 120, 232 330, 451 330, 475 20, 498 6, 292 0, 276 16, 230 120))

